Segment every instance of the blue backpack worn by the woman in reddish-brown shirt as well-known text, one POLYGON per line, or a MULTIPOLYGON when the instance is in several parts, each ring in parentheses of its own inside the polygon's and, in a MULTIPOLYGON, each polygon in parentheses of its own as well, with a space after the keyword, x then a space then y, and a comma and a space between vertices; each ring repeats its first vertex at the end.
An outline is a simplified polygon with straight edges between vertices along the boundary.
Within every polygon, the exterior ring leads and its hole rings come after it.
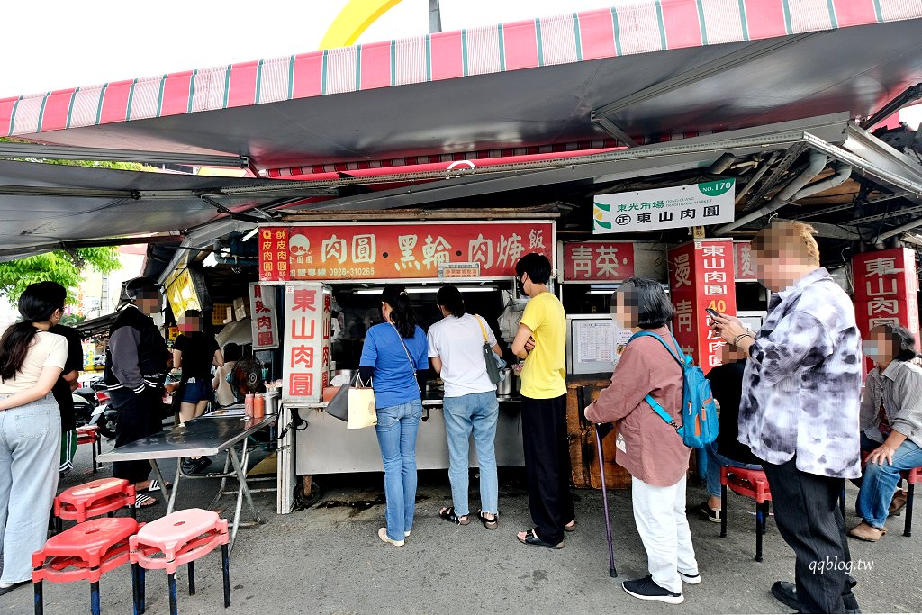
POLYGON ((714 405, 714 395, 711 393, 711 383, 704 377, 701 368, 691 361, 691 357, 684 354, 676 338, 672 337, 675 344, 674 352, 666 341, 649 331, 640 331, 631 336, 630 344, 635 337, 656 337, 659 343, 669 351, 672 358, 679 362, 682 368, 682 426, 668 415, 652 396, 645 396, 646 403, 650 404, 659 418, 676 428, 682 437, 682 442, 691 448, 703 448, 717 438, 717 408, 714 405), (681 359, 680 359, 681 357, 681 359), (682 361, 684 359, 684 361, 682 361))

